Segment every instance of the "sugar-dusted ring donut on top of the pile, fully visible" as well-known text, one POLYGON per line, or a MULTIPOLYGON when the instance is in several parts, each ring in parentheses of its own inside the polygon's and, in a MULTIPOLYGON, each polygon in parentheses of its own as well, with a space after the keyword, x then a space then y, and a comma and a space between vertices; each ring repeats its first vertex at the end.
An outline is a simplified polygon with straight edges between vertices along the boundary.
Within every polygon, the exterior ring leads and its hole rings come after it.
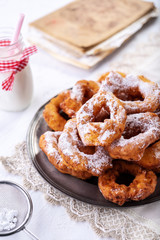
POLYGON ((107 146, 119 138, 124 130, 126 111, 111 92, 99 91, 77 112, 77 127, 84 145, 107 146), (102 109, 108 114, 104 122, 96 117, 102 109))

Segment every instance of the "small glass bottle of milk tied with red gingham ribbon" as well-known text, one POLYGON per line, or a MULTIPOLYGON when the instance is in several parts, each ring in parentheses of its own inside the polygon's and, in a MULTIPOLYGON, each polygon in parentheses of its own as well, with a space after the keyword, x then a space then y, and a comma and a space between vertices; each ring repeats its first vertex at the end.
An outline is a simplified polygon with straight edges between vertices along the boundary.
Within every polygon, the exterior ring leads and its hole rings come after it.
MULTIPOLYGON (((0 62, 8 60, 19 60, 22 57, 24 43, 20 35, 17 42, 8 46, 1 43, 4 40, 11 41, 13 29, 0 28, 0 62)), ((14 76, 12 90, 2 89, 2 82, 10 77, 12 71, 0 71, 0 109, 6 111, 21 111, 29 106, 33 94, 32 73, 29 64, 14 76)))

